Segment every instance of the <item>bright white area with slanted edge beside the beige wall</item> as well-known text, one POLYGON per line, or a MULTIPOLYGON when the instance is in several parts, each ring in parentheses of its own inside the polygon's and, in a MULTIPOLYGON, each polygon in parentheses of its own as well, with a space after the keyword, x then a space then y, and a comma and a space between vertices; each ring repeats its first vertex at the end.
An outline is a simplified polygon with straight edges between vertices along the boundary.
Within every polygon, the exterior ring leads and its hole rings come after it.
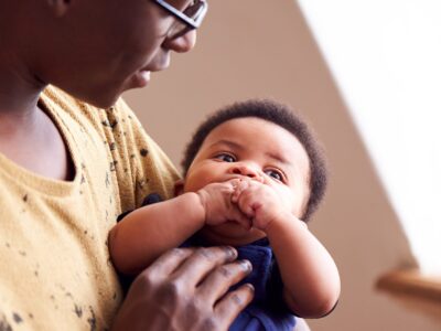
POLYGON ((441 1, 298 3, 421 273, 441 278, 441 259, 433 254, 441 252, 441 1))

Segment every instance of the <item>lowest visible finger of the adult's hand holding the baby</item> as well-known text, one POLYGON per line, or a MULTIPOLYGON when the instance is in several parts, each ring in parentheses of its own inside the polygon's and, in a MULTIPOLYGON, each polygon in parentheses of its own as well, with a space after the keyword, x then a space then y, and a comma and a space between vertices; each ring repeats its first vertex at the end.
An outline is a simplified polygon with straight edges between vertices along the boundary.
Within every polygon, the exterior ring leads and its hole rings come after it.
POLYGON ((220 330, 223 328, 228 329, 239 312, 251 302, 254 293, 254 287, 250 284, 245 284, 238 289, 227 293, 216 303, 214 313, 218 317, 219 321, 226 323, 219 328, 220 330))

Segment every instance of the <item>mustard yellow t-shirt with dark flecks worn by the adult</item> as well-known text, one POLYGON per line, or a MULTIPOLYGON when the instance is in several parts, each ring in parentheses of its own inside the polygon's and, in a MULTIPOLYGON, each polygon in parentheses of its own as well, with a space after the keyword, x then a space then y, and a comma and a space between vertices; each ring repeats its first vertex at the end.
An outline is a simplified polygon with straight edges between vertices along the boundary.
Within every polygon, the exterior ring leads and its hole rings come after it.
POLYGON ((178 173, 122 100, 104 110, 49 87, 40 105, 75 179, 43 178, 0 153, 0 330, 106 330, 121 302, 108 232, 147 194, 171 197, 178 173))

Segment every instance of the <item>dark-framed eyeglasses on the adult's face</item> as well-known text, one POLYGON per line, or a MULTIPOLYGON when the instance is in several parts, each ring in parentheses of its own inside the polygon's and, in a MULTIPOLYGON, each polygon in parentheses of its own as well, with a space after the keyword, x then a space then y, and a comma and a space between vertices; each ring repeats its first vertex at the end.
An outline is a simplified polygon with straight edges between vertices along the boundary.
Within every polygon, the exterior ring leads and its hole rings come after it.
POLYGON ((191 30, 200 28, 208 10, 208 3, 203 0, 192 1, 183 11, 163 0, 154 0, 154 2, 176 19, 168 33, 170 39, 179 38, 191 30))

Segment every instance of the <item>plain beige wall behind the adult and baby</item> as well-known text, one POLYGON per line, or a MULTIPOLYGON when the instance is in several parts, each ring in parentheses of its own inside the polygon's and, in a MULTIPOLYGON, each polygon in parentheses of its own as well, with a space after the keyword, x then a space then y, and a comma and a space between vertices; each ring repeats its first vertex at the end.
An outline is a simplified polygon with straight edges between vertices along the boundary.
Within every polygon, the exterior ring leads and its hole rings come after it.
MULTIPOLYGON (((173 161, 215 108, 248 97, 289 103, 324 142, 332 180, 311 229, 342 276, 337 309, 310 321, 313 330, 440 330, 440 320, 378 293, 381 273, 412 261, 406 238, 369 163, 321 54, 290 0, 212 0, 187 55, 173 56, 143 90, 126 94, 147 131, 173 161)), ((351 29, 348 26, 348 29, 351 29)))

